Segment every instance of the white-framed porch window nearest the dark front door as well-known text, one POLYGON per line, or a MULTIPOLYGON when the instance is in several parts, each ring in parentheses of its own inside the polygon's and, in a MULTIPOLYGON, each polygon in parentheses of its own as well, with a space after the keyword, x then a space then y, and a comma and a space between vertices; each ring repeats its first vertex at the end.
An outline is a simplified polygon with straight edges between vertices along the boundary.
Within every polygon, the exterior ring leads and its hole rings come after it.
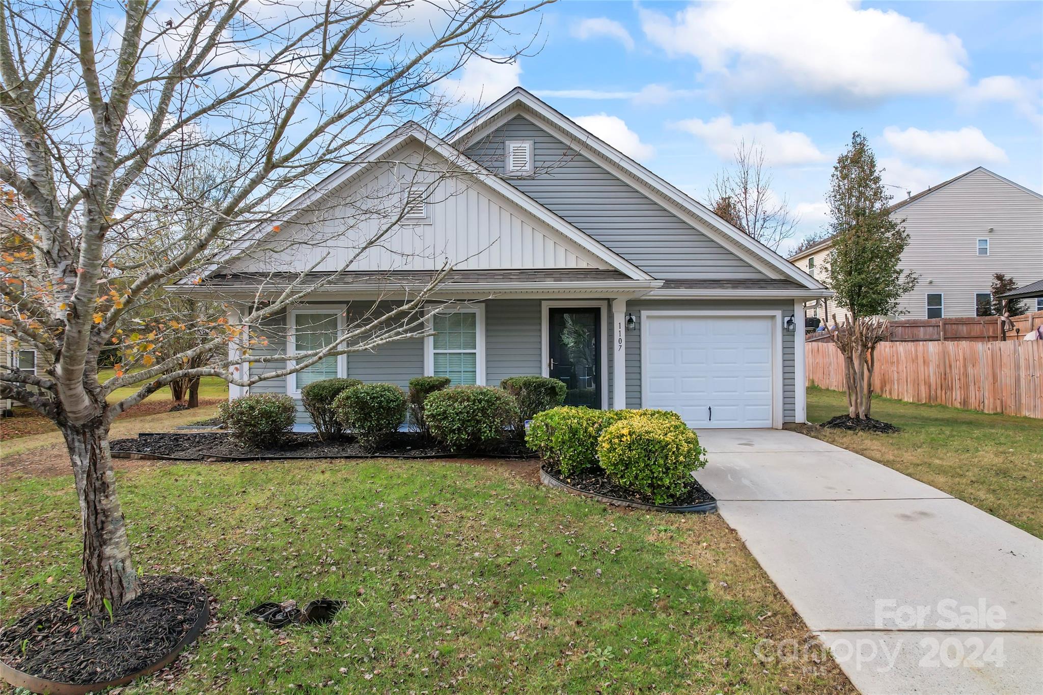
POLYGON ((434 376, 447 376, 453 386, 485 381, 484 307, 460 307, 431 317, 434 336, 428 338, 427 367, 434 376))

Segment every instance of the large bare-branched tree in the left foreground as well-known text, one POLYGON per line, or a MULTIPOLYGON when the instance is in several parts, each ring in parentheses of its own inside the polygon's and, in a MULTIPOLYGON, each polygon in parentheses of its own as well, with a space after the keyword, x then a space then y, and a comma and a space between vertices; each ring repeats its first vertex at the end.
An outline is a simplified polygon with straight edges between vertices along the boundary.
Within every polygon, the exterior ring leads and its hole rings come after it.
POLYGON ((448 263, 432 263, 422 287, 390 311, 360 313, 330 344, 251 353, 266 342, 265 322, 384 248, 415 195, 404 190, 419 181, 421 195, 434 195, 457 167, 390 166, 390 182, 338 196, 336 209, 319 209, 311 187, 410 121, 433 128, 459 118, 462 81, 445 78, 468 59, 516 58, 531 44, 518 34, 537 30, 523 16, 542 4, 0 0, 0 334, 53 363, 41 374, 0 371, 0 397, 50 418, 65 438, 91 610, 140 592, 107 441, 120 413, 176 379, 249 387, 428 334, 429 299, 448 263), (220 172, 202 191, 199 167, 220 172), (287 201, 310 206, 310 229, 288 232, 277 212, 287 201), (231 318, 195 322, 193 347, 164 349, 186 330, 176 314, 153 311, 147 327, 140 319, 159 289, 204 284, 227 258, 342 234, 351 241, 336 265, 316 253, 306 272, 262 278, 231 318), (101 380, 99 354, 114 346, 120 367, 101 380), (194 365, 203 353, 221 356, 194 365), (243 358, 276 364, 247 376, 243 358), (128 387, 131 395, 107 402, 128 387))

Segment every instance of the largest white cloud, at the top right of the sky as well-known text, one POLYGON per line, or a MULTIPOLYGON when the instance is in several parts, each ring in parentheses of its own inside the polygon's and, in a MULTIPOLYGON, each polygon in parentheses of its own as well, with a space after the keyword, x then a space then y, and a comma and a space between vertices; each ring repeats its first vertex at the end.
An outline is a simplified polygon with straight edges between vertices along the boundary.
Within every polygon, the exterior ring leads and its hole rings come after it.
POLYGON ((650 41, 699 59, 726 88, 797 89, 844 99, 943 94, 967 80, 960 39, 894 10, 843 0, 742 0, 640 9, 650 41))

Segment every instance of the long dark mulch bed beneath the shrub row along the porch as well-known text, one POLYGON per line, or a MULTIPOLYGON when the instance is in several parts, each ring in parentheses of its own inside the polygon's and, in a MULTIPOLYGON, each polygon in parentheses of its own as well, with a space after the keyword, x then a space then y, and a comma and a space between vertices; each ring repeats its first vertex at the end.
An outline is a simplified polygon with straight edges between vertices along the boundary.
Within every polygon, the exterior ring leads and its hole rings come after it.
MULTIPOLYGON (((425 441, 415 432, 395 432, 384 446, 369 451, 353 438, 339 442, 322 442, 312 432, 290 432, 283 445, 270 449, 252 449, 239 444, 227 432, 184 432, 141 433, 138 439, 114 440, 110 443, 114 454, 146 454, 180 458, 185 461, 207 460, 249 460, 249 458, 341 458, 381 456, 406 456, 431 458, 455 455, 445 447, 425 441)), ((517 441, 506 441, 481 455, 528 457, 532 453, 517 441)))

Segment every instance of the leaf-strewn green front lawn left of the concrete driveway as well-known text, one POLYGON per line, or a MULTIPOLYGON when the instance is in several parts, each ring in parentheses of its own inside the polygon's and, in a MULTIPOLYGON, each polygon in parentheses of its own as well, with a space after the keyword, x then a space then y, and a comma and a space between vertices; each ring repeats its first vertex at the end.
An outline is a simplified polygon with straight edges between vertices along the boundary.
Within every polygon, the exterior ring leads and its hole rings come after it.
MULTIPOLYGON (((442 462, 157 466, 119 488, 138 567, 219 601, 173 692, 854 692, 828 656, 758 660, 765 637, 809 638, 717 515, 442 462), (348 600, 330 625, 245 616, 322 596, 348 600)), ((79 587, 79 521, 68 476, 0 493, 9 621, 79 587)))

